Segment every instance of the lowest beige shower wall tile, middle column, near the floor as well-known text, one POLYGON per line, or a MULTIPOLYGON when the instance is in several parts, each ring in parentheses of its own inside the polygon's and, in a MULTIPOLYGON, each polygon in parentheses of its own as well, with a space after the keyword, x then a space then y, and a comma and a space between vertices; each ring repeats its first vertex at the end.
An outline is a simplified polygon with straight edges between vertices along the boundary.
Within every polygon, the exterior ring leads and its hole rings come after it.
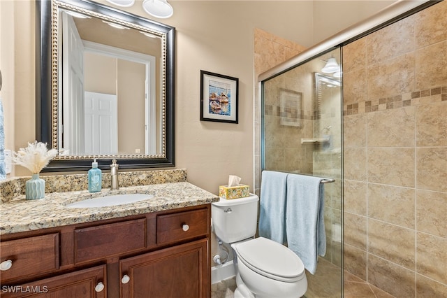
POLYGON ((368 282, 395 297, 415 297, 414 271, 368 254, 368 282))

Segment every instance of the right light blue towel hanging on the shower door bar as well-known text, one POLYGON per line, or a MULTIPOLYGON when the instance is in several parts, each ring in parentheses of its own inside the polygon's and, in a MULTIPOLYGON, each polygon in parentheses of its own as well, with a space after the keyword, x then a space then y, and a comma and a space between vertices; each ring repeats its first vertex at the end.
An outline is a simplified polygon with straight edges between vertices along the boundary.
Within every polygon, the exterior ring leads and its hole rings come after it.
POLYGON ((315 274, 318 255, 326 253, 322 178, 287 176, 286 233, 288 248, 315 274))

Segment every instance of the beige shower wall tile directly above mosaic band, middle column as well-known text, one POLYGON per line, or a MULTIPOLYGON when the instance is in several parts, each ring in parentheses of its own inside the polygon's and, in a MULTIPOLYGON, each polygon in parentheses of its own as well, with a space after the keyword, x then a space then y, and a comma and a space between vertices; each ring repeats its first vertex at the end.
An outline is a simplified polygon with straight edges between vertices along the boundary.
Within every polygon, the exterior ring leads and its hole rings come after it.
POLYGON ((369 99, 412 92, 415 85, 413 53, 369 64, 367 92, 369 99))

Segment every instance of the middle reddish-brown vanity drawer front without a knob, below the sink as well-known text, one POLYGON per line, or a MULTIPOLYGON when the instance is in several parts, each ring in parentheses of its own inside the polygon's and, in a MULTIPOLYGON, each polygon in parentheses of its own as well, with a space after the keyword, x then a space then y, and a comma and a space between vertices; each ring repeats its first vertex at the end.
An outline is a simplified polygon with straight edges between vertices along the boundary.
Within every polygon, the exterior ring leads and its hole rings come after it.
POLYGON ((130 253, 146 247, 146 219, 75 229, 75 263, 130 253))

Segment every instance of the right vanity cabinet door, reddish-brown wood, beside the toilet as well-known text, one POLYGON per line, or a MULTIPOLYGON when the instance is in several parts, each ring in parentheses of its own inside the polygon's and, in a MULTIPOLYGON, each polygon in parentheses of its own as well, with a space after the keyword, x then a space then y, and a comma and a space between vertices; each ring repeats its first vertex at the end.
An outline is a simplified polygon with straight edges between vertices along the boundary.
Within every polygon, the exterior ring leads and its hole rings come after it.
POLYGON ((207 246, 202 239, 121 260, 122 297, 209 297, 207 246))

